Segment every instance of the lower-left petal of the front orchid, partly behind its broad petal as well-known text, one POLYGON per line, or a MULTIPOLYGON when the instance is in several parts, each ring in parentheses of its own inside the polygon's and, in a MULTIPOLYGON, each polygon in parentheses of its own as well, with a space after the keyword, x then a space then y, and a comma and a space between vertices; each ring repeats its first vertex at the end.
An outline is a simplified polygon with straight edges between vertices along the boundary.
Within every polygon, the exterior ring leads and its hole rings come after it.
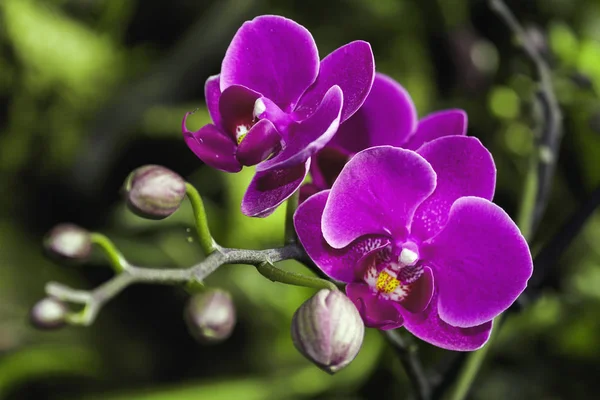
POLYGON ((294 214, 294 227, 308 256, 327 276, 340 282, 354 282, 355 266, 363 255, 381 248, 389 241, 380 238, 359 240, 344 249, 334 249, 321 233, 321 216, 329 191, 319 192, 302 203, 294 214))

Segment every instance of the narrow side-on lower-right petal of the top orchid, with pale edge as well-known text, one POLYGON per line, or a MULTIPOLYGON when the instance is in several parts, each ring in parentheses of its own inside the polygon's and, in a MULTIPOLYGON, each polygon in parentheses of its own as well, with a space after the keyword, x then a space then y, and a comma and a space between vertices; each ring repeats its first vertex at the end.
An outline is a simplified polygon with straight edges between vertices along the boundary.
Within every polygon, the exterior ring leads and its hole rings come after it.
POLYGON ((310 118, 290 127, 283 150, 275 157, 258 164, 257 171, 288 168, 304 163, 331 140, 340 123, 344 102, 338 86, 332 87, 317 111, 310 118))

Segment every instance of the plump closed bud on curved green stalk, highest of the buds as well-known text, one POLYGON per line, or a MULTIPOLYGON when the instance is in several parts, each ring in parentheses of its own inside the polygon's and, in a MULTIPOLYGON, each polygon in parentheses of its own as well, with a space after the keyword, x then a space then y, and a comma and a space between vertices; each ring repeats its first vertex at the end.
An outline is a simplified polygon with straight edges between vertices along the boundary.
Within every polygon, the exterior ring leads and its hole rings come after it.
POLYGON ((129 208, 140 217, 163 219, 173 214, 185 197, 185 181, 160 165, 134 170, 125 181, 129 208))

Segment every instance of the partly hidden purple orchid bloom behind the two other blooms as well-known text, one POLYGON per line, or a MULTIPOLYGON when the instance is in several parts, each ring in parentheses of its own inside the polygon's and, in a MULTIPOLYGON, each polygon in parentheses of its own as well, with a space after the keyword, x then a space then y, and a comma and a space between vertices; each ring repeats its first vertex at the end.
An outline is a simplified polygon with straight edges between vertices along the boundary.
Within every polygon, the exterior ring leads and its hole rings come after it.
POLYGON ((467 114, 463 110, 437 111, 419 120, 406 89, 377 73, 362 107, 312 157, 312 182, 302 186, 301 198, 331 188, 346 162, 361 150, 384 145, 417 150, 439 137, 464 136, 466 132, 467 114))

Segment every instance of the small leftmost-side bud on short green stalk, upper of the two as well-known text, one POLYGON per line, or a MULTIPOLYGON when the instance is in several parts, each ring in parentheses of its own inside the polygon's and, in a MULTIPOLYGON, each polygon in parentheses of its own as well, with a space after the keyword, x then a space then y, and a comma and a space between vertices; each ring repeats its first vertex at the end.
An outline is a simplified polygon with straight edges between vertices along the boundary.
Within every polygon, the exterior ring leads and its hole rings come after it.
POLYGON ((90 233, 77 225, 59 224, 46 236, 44 246, 51 255, 83 261, 92 251, 92 240, 90 233))

